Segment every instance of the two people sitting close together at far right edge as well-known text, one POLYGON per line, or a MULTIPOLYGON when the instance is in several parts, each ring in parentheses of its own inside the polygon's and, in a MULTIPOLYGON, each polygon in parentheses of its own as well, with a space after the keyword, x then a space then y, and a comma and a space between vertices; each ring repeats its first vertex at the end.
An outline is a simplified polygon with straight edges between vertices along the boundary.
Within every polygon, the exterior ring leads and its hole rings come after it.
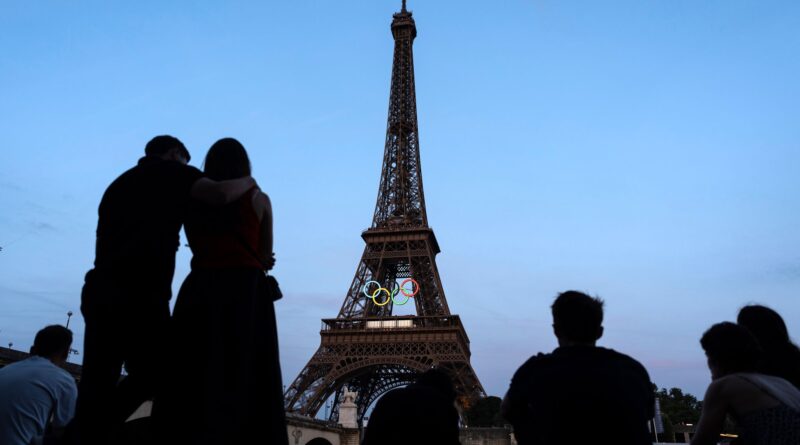
POLYGON ((700 339, 712 382, 692 445, 716 444, 726 416, 741 443, 799 444, 800 350, 772 309, 745 306, 737 321, 715 324, 700 339))

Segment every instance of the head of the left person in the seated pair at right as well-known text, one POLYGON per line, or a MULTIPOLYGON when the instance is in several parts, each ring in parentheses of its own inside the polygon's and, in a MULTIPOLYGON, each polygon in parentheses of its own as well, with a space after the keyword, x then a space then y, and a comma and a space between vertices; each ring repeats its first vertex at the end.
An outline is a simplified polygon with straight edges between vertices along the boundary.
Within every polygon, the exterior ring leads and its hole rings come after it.
POLYGON ((708 357, 712 379, 758 368, 761 347, 747 328, 736 323, 725 321, 711 326, 700 338, 700 345, 708 357))

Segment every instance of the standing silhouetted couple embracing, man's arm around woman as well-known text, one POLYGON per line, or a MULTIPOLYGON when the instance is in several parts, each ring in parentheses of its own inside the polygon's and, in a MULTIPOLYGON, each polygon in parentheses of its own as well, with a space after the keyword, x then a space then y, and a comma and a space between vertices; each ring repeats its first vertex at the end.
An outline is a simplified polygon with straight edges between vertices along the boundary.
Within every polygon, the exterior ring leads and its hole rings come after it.
POLYGON ((235 139, 217 141, 205 175, 187 165, 188 150, 171 136, 153 138, 145 155, 100 203, 95 267, 81 301, 74 432, 81 443, 108 443, 155 398, 156 434, 168 443, 240 443, 257 431, 285 444, 265 276, 274 265, 272 209, 250 177, 247 153, 235 139), (182 225, 194 257, 171 319, 182 225))

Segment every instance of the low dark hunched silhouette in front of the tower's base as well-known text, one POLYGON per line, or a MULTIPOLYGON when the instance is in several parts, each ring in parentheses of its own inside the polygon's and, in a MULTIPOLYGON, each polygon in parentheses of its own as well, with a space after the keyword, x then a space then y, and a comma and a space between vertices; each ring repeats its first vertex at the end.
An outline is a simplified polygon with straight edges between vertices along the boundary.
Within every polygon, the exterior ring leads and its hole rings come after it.
POLYGON ((426 371, 378 400, 361 445, 458 445, 455 400, 450 377, 438 369, 426 371))

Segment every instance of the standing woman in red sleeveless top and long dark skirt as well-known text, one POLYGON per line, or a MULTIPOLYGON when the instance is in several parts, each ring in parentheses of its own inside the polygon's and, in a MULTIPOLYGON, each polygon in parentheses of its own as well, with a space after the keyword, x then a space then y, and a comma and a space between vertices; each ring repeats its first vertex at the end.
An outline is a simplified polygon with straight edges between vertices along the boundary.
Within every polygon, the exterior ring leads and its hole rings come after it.
MULTIPOLYGON (((250 175, 239 141, 217 141, 209 178, 250 175)), ((154 416, 170 444, 288 444, 273 301, 264 291, 272 209, 257 188, 222 209, 195 203, 186 222, 192 270, 173 311, 172 376, 154 416)))

